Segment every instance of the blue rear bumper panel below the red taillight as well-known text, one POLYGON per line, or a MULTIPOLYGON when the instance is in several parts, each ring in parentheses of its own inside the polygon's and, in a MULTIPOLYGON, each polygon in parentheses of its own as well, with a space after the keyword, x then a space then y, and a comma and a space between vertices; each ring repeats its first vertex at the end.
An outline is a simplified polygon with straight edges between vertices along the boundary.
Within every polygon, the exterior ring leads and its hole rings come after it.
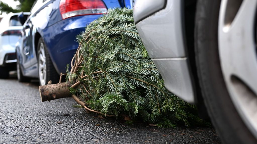
POLYGON ((71 63, 71 59, 76 53, 78 48, 76 36, 84 32, 86 25, 100 16, 88 15, 68 18, 43 30, 44 42, 58 73, 66 73, 66 65, 71 63))

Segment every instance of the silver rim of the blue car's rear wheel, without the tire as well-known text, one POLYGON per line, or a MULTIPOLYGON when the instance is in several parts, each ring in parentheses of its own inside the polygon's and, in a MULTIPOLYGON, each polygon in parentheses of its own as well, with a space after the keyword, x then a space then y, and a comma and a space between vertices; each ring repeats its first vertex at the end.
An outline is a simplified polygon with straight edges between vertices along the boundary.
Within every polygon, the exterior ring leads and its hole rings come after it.
POLYGON ((47 79, 47 67, 46 67, 46 59, 45 59, 45 50, 43 43, 40 44, 39 52, 38 52, 38 72, 39 72, 39 81, 40 85, 44 86, 46 84, 47 79))

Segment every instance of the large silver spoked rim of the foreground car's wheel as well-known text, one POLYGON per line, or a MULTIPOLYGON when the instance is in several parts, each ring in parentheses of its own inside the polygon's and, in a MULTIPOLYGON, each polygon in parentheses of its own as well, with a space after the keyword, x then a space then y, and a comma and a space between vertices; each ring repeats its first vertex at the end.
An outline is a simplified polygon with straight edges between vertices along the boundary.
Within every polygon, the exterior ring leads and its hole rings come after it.
MULTIPOLYGON (((223 0, 219 12, 219 57, 230 97, 246 126, 257 138, 256 0, 244 0, 231 22, 233 8, 223 0)), ((240 0, 233 0, 233 3, 240 0)))

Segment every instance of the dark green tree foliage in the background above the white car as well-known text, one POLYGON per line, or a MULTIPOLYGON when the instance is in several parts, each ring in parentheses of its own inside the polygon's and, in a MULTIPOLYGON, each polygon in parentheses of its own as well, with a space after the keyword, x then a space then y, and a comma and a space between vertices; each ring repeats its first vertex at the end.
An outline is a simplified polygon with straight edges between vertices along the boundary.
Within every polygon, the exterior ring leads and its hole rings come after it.
POLYGON ((20 2, 20 5, 17 6, 17 9, 13 9, 7 4, 0 2, 0 14, 2 14, 2 12, 6 12, 6 13, 30 12, 31 7, 35 2, 35 0, 14 0, 14 1, 20 2))

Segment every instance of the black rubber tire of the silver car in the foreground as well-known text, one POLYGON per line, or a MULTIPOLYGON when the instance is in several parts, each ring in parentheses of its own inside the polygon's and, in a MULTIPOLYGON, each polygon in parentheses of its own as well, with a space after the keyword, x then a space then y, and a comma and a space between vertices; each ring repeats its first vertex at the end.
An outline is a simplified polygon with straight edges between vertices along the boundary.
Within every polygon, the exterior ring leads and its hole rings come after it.
POLYGON ((230 98, 218 53, 220 0, 199 0, 195 19, 198 80, 208 114, 223 143, 257 143, 230 98))

